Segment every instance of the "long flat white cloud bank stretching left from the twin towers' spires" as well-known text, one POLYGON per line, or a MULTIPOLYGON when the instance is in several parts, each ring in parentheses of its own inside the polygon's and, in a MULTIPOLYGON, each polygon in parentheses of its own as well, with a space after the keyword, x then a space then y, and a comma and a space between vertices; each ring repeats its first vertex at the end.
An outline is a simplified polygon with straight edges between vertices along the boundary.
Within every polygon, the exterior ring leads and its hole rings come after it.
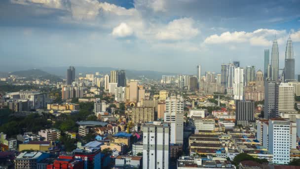
POLYGON ((285 30, 274 30, 274 29, 258 29, 253 32, 225 32, 220 36, 215 34, 207 37, 204 43, 216 44, 216 43, 231 43, 231 42, 249 42, 251 45, 269 46, 272 44, 274 35, 282 36, 286 34, 285 30))

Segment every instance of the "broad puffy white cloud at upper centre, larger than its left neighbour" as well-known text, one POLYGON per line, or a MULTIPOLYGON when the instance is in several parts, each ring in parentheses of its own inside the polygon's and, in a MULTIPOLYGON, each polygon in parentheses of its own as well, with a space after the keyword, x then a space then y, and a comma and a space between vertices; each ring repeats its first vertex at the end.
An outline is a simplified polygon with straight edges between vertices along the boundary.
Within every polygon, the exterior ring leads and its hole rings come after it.
POLYGON ((158 30, 155 38, 158 40, 188 40, 198 35, 199 30, 193 27, 192 18, 175 19, 158 30))

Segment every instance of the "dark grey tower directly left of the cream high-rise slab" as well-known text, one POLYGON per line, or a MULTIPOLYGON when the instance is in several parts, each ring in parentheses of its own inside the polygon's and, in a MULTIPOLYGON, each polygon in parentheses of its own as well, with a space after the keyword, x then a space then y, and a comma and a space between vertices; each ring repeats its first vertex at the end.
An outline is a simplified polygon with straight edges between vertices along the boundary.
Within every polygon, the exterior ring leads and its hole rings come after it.
POLYGON ((264 82, 264 119, 278 117, 278 84, 267 79, 264 82))

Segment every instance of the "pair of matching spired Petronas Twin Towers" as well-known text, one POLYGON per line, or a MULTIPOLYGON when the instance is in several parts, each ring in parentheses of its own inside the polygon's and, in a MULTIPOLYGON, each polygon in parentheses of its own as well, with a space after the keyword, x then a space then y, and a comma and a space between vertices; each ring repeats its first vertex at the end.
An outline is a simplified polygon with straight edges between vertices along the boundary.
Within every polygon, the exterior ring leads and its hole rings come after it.
MULTIPOLYGON (((279 74, 279 52, 278 43, 275 39, 272 45, 271 53, 271 78, 273 81, 278 82, 279 74)), ((282 77, 282 82, 295 81, 295 58, 293 51, 293 42, 291 37, 289 37, 286 51, 285 51, 285 62, 284 62, 284 73, 282 77)))

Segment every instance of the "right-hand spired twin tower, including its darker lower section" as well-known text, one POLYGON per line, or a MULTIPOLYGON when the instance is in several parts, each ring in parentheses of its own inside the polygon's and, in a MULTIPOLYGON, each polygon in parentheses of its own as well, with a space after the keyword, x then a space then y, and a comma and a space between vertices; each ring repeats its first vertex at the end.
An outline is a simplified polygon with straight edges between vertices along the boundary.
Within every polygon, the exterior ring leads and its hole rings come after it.
POLYGON ((295 81, 295 58, 291 36, 288 39, 285 50, 284 79, 285 82, 295 81))

